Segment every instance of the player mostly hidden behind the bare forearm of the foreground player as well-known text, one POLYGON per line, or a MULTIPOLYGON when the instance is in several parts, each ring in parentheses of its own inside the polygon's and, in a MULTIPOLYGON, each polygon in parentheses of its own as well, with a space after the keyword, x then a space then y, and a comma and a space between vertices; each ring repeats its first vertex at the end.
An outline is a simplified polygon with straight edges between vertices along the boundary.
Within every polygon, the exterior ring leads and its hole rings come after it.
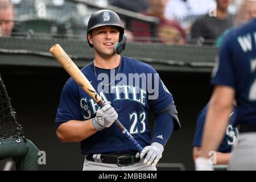
MULTIPOLYGON (((203 110, 200 111, 200 113, 197 116, 197 121, 196 121, 196 131, 195 131, 195 137, 193 141, 193 160, 198 157, 200 154, 200 148, 201 148, 201 139, 203 135, 203 129, 204 129, 204 122, 205 122, 205 117, 207 114, 207 110, 209 107, 209 103, 204 107, 203 110)), ((237 114, 237 107, 233 106, 233 111, 229 115, 229 125, 226 128, 225 131, 225 136, 222 139, 220 147, 218 147, 218 151, 216 152, 216 159, 214 162, 217 165, 227 165, 230 160, 231 156, 231 150, 233 144, 236 142, 238 131, 236 126, 234 125, 235 119, 236 119, 236 114, 237 114)))

